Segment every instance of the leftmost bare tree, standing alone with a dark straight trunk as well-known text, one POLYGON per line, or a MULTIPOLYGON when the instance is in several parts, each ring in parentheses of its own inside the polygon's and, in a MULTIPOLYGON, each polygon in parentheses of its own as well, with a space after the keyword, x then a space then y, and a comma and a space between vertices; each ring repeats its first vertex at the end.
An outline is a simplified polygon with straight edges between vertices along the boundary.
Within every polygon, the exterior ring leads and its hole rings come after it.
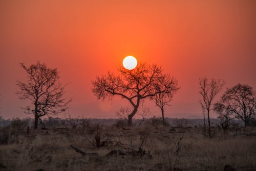
POLYGON ((26 67, 24 63, 20 66, 27 72, 27 83, 17 81, 19 88, 17 94, 20 100, 29 100, 32 104, 24 107, 26 114, 34 115, 34 129, 41 122, 41 116, 55 115, 68 108, 71 100, 63 98, 64 87, 59 80, 57 68, 47 68, 45 63, 32 64, 26 67))

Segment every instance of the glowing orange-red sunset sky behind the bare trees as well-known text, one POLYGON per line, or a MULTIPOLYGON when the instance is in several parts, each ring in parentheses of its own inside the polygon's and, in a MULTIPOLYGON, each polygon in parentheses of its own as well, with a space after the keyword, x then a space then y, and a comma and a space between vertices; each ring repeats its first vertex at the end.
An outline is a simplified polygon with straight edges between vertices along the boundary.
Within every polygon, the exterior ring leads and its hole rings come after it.
MULTIPOLYGON (((115 117, 128 103, 100 102, 91 81, 116 71, 127 55, 163 65, 180 91, 168 117, 201 115, 198 78, 256 89, 256 1, 0 1, 0 106, 6 118, 26 117, 15 94, 19 66, 37 60, 70 83, 70 114, 115 117)), ((216 99, 217 100, 217 99, 216 99)), ((154 103, 145 103, 160 116, 154 103)))

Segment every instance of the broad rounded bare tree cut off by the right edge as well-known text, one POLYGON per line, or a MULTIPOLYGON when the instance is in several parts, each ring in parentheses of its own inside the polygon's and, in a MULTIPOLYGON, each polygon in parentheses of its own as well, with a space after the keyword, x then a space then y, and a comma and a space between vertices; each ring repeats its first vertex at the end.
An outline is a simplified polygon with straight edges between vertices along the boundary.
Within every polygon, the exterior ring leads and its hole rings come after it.
POLYGON ((239 83, 232 88, 227 89, 221 97, 219 106, 221 106, 222 110, 225 110, 231 118, 241 119, 245 126, 249 126, 251 121, 255 118, 255 99, 256 94, 253 91, 253 88, 239 83))

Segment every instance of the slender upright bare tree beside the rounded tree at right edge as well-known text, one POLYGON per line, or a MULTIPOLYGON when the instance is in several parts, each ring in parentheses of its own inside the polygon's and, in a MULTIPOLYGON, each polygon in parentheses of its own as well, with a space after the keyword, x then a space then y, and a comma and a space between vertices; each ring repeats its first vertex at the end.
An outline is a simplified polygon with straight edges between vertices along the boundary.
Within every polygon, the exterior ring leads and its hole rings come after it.
POLYGON ((208 118, 208 135, 211 137, 210 132, 210 110, 212 105, 212 100, 214 97, 221 91, 222 87, 225 85, 223 80, 210 79, 208 80, 206 77, 199 78, 200 91, 199 93, 202 96, 202 99, 199 100, 199 103, 204 110, 207 111, 208 118))

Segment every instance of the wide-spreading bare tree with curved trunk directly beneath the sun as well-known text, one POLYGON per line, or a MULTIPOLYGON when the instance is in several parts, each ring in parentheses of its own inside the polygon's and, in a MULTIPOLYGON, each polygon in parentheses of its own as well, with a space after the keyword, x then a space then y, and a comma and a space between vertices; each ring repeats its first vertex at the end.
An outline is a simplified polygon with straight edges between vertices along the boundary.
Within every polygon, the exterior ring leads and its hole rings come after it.
POLYGON ((128 116, 128 125, 132 125, 132 118, 138 111, 140 103, 151 99, 159 93, 173 93, 179 89, 178 82, 170 75, 163 74, 161 66, 149 66, 140 63, 135 69, 128 70, 123 67, 118 69, 120 75, 115 76, 108 72, 107 75, 97 77, 93 84, 93 93, 98 99, 104 100, 113 96, 126 99, 133 107, 128 116))

